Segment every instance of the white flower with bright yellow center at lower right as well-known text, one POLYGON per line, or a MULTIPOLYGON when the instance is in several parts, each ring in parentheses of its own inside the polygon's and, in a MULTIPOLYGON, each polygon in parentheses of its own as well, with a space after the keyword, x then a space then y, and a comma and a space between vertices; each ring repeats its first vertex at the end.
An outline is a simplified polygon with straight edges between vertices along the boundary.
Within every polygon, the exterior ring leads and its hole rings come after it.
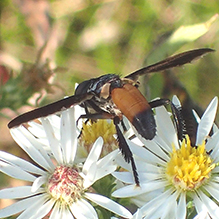
POLYGON ((210 137, 214 126, 218 98, 198 118, 196 147, 188 136, 180 142, 164 107, 156 108, 157 135, 152 141, 142 140, 144 147, 129 142, 136 155, 140 186, 137 187, 130 168, 113 175, 124 183, 112 195, 131 197, 139 207, 136 219, 219 218, 219 131, 210 137))

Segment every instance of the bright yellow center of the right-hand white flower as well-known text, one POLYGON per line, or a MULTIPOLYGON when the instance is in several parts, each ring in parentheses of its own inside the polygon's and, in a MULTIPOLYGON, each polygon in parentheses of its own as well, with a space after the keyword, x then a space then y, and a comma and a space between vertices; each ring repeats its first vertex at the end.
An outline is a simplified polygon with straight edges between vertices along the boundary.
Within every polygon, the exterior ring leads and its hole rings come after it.
POLYGON ((215 164, 206 152, 205 141, 192 147, 189 137, 186 136, 180 149, 176 150, 173 146, 166 176, 177 189, 195 190, 209 179, 214 168, 215 164))

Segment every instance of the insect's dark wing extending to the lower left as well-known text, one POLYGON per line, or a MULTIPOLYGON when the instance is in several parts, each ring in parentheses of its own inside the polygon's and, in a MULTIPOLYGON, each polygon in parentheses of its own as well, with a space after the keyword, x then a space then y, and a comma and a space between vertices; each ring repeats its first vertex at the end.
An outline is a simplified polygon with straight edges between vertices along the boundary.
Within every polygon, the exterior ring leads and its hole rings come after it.
POLYGON ((29 122, 40 117, 45 117, 61 110, 70 108, 71 106, 80 104, 86 100, 91 99, 92 97, 93 95, 89 93, 73 95, 46 106, 34 109, 11 120, 8 123, 8 128, 13 128, 15 126, 21 125, 22 123, 29 122))

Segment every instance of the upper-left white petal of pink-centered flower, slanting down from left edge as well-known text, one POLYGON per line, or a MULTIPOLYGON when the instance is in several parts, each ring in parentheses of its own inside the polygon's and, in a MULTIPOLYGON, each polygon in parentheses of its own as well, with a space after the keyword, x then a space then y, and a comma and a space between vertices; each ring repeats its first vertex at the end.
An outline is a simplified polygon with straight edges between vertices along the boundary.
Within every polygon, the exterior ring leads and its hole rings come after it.
POLYGON ((37 175, 42 175, 45 173, 42 169, 36 167, 32 163, 4 151, 0 151, 0 159, 12 164, 13 166, 20 167, 21 169, 30 173, 35 173, 37 175))

